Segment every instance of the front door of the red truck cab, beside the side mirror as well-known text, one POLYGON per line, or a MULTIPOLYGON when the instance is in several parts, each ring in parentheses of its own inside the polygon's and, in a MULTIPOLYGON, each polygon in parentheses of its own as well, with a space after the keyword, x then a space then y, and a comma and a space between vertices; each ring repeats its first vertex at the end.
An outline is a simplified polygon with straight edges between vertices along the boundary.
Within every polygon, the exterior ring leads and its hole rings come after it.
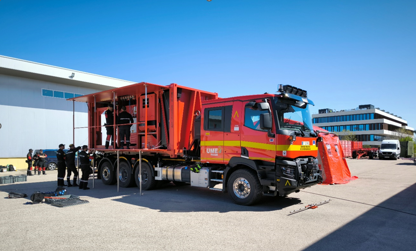
MULTIPOLYGON (((255 101, 263 102, 261 100, 255 101)), ((246 107, 245 105, 245 102, 243 102, 242 108, 244 113, 242 116, 244 117, 241 123, 244 124, 240 129, 241 149, 243 150, 241 155, 248 155, 250 160, 262 160, 274 163, 276 159, 276 136, 260 128, 260 114, 270 112, 260 111, 256 107, 246 107)), ((275 131, 276 128, 273 125, 272 132, 275 131)))

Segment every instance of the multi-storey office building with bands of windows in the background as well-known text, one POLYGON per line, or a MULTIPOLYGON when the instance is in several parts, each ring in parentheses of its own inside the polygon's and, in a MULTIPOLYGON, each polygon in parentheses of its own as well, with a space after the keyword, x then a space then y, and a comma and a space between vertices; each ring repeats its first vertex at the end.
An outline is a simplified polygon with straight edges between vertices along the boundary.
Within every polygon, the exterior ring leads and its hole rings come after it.
POLYGON ((414 128, 406 120, 394 114, 374 108, 373 105, 360 105, 355 110, 321 109, 312 115, 314 126, 339 135, 353 133, 365 145, 379 146, 381 141, 401 133, 413 137, 414 128))

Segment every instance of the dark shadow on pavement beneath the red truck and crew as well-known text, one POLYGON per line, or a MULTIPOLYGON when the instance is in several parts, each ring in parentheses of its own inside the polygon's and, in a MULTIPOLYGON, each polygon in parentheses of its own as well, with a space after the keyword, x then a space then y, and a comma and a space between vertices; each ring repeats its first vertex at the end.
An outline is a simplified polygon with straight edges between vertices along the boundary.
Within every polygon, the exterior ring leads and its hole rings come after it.
MULTIPOLYGON (((65 180, 65 184, 66 184, 65 180)), ((56 181, 42 182, 19 182, 14 184, 1 185, 2 192, 25 193, 30 201, 30 196, 35 191, 55 191, 56 181)), ((160 212, 190 212, 190 211, 274 211, 284 209, 296 204, 302 204, 297 198, 281 198, 263 196, 260 202, 254 206, 246 207, 234 204, 229 194, 219 191, 212 191, 206 188, 191 186, 175 186, 173 183, 166 184, 159 189, 142 191, 139 194, 138 187, 122 188, 117 192, 117 184, 112 186, 104 185, 101 180, 95 180, 95 188, 92 188, 92 179, 89 180, 90 190, 78 189, 78 187, 65 187, 68 194, 78 196, 89 196, 96 199, 112 197, 114 201, 134 206, 159 210, 160 212)), ((7 199, 11 200, 11 199, 7 199)))

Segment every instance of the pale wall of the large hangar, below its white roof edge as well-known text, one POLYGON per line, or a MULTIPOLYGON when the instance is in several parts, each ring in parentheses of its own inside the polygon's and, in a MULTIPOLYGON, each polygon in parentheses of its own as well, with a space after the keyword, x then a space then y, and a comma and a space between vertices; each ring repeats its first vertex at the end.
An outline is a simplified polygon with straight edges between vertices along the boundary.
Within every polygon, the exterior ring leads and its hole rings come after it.
MULTIPOLYGON (((0 158, 25 157, 29 148, 56 149, 73 141, 73 102, 42 96, 42 88, 78 94, 98 90, 0 74, 0 158)), ((88 126, 88 107, 75 102, 75 126, 88 126)), ((76 145, 88 145, 77 129, 76 145)))

